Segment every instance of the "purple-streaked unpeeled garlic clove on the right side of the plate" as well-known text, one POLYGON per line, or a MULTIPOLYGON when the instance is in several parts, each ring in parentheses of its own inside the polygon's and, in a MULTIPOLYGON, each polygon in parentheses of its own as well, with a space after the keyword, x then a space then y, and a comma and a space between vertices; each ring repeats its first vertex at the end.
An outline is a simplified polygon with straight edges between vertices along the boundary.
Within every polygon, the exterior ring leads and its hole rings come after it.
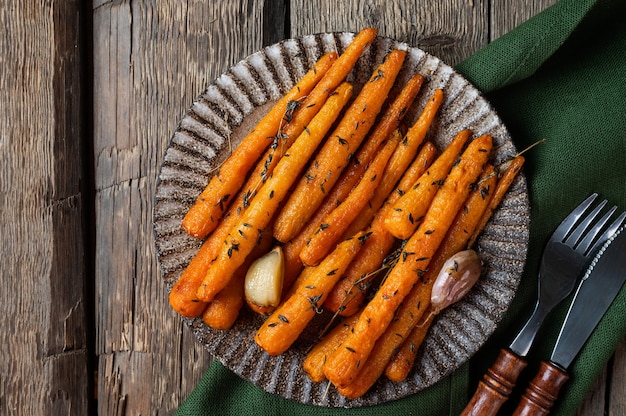
POLYGON ((474 250, 454 254, 441 267, 431 293, 431 304, 439 313, 462 299, 480 277, 482 263, 474 250))

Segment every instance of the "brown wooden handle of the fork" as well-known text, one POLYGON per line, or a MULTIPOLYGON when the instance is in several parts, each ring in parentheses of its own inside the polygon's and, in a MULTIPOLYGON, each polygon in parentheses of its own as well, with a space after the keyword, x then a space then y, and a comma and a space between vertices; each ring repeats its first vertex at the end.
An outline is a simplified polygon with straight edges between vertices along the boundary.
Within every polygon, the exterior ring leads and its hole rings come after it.
POLYGON ((461 416, 495 416, 515 387, 526 361, 509 350, 500 350, 496 362, 487 370, 461 416))

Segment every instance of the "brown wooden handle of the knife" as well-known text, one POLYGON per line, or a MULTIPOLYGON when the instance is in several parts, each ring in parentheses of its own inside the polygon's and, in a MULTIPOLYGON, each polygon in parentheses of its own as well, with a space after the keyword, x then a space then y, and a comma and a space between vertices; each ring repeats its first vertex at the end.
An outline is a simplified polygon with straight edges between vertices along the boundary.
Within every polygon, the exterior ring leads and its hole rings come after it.
POLYGON ((535 377, 530 381, 520 399, 514 416, 542 416, 550 408, 569 375, 553 364, 542 361, 535 377))

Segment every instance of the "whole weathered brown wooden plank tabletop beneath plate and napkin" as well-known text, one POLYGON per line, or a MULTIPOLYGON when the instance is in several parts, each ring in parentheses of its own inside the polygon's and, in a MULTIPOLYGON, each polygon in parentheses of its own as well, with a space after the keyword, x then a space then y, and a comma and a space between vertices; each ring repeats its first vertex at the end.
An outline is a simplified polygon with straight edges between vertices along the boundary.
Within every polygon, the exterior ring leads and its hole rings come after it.
MULTIPOLYGON (((196 386, 211 357, 168 306, 153 194, 178 120, 230 65, 364 26, 453 65, 554 1, 2 2, 0 414, 168 414, 196 386)), ((625 414, 625 360, 579 414, 625 414)))

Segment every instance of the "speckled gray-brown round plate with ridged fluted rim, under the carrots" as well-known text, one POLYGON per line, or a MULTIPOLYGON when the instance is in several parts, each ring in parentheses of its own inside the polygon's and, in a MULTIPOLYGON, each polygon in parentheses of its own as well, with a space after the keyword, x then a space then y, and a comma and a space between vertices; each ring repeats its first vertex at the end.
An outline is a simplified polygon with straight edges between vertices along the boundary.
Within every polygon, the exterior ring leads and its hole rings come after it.
MULTIPOLYGON (((156 248, 164 283, 171 289, 199 247, 181 229, 181 221, 216 166, 243 135, 324 53, 343 51, 353 33, 327 33, 286 40, 242 60, 217 78, 191 105, 167 148, 159 173, 154 206, 156 248)), ((494 138, 494 163, 516 153, 502 121, 479 91, 450 66, 424 51, 379 37, 358 61, 350 80, 360 88, 390 48, 408 51, 397 84, 415 71, 427 76, 420 96, 405 119, 413 122, 435 88, 445 102, 429 132, 443 148, 461 129, 494 138)), ((468 360, 494 331, 517 289, 526 260, 529 203, 523 175, 509 190, 478 242, 485 273, 472 292, 437 317, 414 370, 402 383, 384 377, 357 400, 348 400, 326 383, 312 383, 302 360, 317 334, 309 331, 285 354, 270 357, 253 335, 262 318, 247 309, 229 331, 208 328, 201 319, 186 319, 200 343, 258 387, 302 403, 355 407, 384 403, 422 390, 468 360)), ((319 319, 324 319, 320 316, 319 319)))

